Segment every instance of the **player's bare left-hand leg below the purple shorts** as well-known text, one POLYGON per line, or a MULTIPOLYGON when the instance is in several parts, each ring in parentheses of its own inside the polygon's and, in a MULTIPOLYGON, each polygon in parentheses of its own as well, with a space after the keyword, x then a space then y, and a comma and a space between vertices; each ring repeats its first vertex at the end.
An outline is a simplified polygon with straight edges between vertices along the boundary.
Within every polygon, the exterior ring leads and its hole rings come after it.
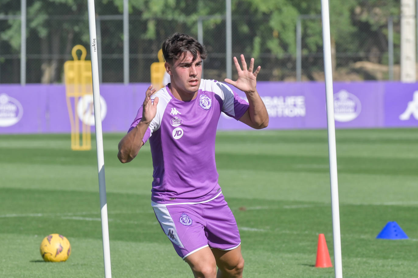
POLYGON ((187 256, 186 263, 190 265, 195 278, 216 278, 216 260, 209 247, 205 247, 187 256))

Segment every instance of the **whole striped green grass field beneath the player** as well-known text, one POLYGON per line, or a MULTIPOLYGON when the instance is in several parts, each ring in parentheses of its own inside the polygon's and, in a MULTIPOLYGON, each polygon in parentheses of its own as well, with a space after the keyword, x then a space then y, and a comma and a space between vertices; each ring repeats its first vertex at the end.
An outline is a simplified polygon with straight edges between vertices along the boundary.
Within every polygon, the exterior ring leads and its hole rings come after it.
MULTIPOLYGON (((191 277, 150 207, 149 145, 122 164, 122 136, 104 135, 112 277, 191 277)), ((336 143, 344 277, 418 277, 418 129, 337 130, 336 143), (376 239, 389 221, 409 239, 376 239)), ((326 130, 219 132, 216 154, 245 277, 334 277, 314 267, 320 233, 334 264, 326 130)), ((0 135, 0 169, 0 277, 104 277, 95 148, 0 135), (43 262, 50 233, 71 242, 65 263, 43 262)))

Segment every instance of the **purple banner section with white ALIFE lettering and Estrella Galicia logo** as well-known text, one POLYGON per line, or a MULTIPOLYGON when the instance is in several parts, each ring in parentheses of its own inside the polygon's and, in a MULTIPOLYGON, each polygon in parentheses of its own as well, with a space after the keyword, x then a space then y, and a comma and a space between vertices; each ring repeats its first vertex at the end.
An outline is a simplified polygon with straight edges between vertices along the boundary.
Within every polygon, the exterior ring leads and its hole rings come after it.
MULTIPOLYGON (((230 86, 231 87, 231 86, 230 86)), ((245 94, 231 87, 245 98, 245 94)), ((257 82, 268 110, 270 129, 326 128, 326 94, 323 82, 257 82)), ((385 83, 334 83, 336 128, 384 126, 385 83)), ((234 120, 221 117, 221 129, 241 129, 234 120)))

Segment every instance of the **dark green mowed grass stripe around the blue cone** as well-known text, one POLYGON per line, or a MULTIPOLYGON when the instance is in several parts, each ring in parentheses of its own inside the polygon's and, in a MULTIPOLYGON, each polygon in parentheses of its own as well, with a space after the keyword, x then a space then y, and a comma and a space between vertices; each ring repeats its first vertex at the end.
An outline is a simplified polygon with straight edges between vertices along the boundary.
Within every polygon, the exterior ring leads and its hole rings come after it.
MULTIPOLYGON (((43 213, 45 209, 39 204, 48 204, 49 207, 63 209, 64 215, 46 214, 43 217, 19 217, 0 218, 3 223, 0 233, 18 233, 27 235, 43 235, 54 232, 64 233, 70 237, 101 238, 101 225, 99 221, 99 201, 97 194, 83 192, 67 192, 62 198, 62 192, 42 190, 18 190, 1 189, 1 196, 14 196, 15 198, 3 199, 5 207, 18 207, 21 213, 31 211, 43 213), (17 202, 15 200, 18 200, 17 202), (64 205, 63 205, 64 202, 64 205), (75 205, 76 204, 76 205, 75 205), (92 212, 97 208, 97 213, 88 215, 84 212, 92 212), (71 210, 82 217, 69 218, 65 212, 71 210)), ((240 198, 227 198, 229 206, 234 208, 237 223, 242 227, 263 230, 263 235, 254 235, 254 232, 242 232, 242 240, 246 248, 264 248, 273 252, 280 246, 281 252, 306 252, 306 245, 315 241, 319 233, 332 235, 331 208, 326 205, 318 205, 309 202, 295 201, 271 201, 267 211, 246 210, 246 207, 265 205, 264 199, 244 200, 240 198), (293 209, 289 209, 293 206, 293 209), (296 207, 295 207, 296 206, 296 207), (236 208, 243 209, 236 209, 236 208), (261 217, 262 216, 262 217, 261 217), (283 231, 283 232, 282 232, 283 231), (301 231, 303 231, 301 233, 301 231), (281 240, 278 240, 280 237, 281 240), (277 242, 278 245, 267 242, 277 242), (293 242, 297 243, 294 244, 293 242), (305 242, 303 244, 299 244, 305 242)), ((47 212, 50 210, 46 209, 47 212)), ((130 194, 108 194, 109 231, 112 240, 130 242, 161 242, 166 236, 160 231, 158 222, 152 213, 148 196, 132 196, 130 194), (114 212, 114 210, 117 210, 114 212)), ((12 213, 12 212, 7 212, 12 213)), ((17 213, 14 211, 13 213, 17 213)), ((343 246, 348 256, 370 255, 375 258, 392 258, 393 255, 383 252, 386 248, 392 248, 392 252, 403 252, 404 260, 415 260, 417 255, 411 256, 418 248, 418 242, 375 240, 386 221, 396 218, 398 224, 409 234, 411 238, 418 238, 418 224, 415 217, 418 207, 405 206, 370 206, 370 205, 342 205, 340 207, 342 221, 343 246), (387 220, 389 219, 389 220, 387 220), (364 224, 362 224, 364 223, 364 224), (347 235, 347 237, 345 237, 347 235), (364 237, 368 237, 364 239, 364 237), (376 246, 378 244, 378 246, 376 246), (382 248, 379 254, 364 250, 363 246, 375 245, 374 248, 382 248), (379 247, 380 246, 380 247, 379 247), (399 249, 396 249, 398 246, 399 249), (395 249, 394 249, 395 248, 395 249), (409 254, 409 255, 408 255, 409 254)), ((169 244, 169 242, 167 242, 169 244)))

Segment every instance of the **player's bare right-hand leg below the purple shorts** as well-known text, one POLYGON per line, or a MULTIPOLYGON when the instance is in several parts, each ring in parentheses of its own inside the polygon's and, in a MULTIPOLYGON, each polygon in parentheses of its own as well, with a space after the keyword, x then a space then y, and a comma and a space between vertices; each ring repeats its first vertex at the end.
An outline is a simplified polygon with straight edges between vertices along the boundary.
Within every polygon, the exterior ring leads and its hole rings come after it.
POLYGON ((241 245, 229 251, 214 248, 212 253, 219 268, 217 278, 242 278, 244 258, 241 254, 241 245))

